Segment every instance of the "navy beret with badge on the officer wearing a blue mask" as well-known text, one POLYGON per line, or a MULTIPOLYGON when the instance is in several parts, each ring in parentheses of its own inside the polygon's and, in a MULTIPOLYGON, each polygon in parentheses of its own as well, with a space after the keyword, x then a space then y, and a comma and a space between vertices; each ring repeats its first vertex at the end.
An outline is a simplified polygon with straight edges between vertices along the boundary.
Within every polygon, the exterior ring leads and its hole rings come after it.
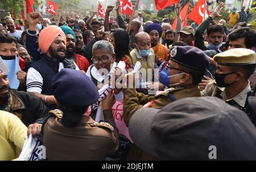
POLYGON ((194 46, 174 46, 170 56, 172 61, 194 70, 204 71, 210 66, 204 51, 194 46))

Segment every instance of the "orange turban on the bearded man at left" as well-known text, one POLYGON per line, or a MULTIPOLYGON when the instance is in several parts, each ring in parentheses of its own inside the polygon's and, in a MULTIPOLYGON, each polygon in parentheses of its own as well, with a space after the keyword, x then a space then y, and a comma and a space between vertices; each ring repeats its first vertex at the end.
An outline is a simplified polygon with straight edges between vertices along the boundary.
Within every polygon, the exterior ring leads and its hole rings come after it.
POLYGON ((39 48, 43 51, 44 54, 47 53, 52 42, 59 35, 61 35, 64 38, 65 44, 67 44, 65 33, 61 30, 60 27, 57 27, 56 25, 46 27, 40 32, 38 44, 39 48))

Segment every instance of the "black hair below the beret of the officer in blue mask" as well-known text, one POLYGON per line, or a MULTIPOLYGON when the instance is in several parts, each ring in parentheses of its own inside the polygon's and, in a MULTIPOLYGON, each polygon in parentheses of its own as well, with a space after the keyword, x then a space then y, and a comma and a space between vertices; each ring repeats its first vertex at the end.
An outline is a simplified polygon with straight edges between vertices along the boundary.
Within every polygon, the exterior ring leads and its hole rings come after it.
POLYGON ((192 82, 193 84, 199 84, 201 83, 201 80, 204 77, 205 74, 205 70, 204 71, 200 71, 200 70, 194 70, 192 68, 189 67, 185 67, 182 65, 179 65, 180 70, 182 70, 183 72, 190 74, 192 76, 192 82))

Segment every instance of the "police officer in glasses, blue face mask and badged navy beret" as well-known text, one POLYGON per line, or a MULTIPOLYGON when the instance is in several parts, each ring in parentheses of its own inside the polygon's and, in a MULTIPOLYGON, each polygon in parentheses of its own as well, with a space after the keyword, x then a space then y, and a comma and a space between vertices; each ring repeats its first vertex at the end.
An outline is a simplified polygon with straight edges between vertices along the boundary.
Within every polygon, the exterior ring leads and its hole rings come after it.
POLYGON ((197 84, 204 76, 209 61, 205 53, 193 46, 174 46, 171 60, 159 74, 160 83, 175 87, 166 89, 156 96, 138 93, 135 88, 125 89, 123 117, 128 126, 131 116, 143 106, 162 109, 170 102, 185 97, 200 97, 197 84), (147 104, 148 102, 151 104, 147 104))

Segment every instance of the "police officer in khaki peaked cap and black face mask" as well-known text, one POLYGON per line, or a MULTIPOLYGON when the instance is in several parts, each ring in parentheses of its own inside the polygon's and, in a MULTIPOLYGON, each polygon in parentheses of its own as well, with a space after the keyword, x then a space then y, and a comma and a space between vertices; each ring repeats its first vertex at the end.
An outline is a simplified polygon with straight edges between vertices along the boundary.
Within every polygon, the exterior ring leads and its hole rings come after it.
POLYGON ((254 125, 256 119, 250 113, 247 97, 253 94, 248 79, 255 71, 255 59, 255 52, 244 48, 230 49, 215 55, 213 58, 217 62, 215 80, 201 91, 202 96, 216 96, 245 111, 254 125))

